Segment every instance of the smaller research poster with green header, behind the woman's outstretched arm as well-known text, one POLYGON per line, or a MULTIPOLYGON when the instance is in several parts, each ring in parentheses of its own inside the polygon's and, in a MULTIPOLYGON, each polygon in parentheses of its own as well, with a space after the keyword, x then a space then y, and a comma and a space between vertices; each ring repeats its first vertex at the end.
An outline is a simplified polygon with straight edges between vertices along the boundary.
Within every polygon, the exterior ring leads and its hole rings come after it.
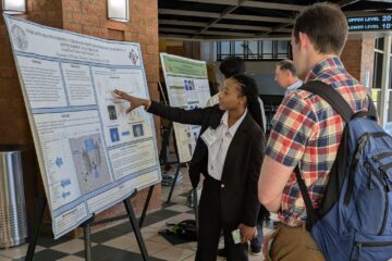
MULTIPOLYGON (((210 98, 206 62, 168 53, 160 53, 160 58, 170 105, 185 110, 204 108, 210 98)), ((180 123, 173 123, 173 126, 180 162, 188 162, 200 126, 180 123)))

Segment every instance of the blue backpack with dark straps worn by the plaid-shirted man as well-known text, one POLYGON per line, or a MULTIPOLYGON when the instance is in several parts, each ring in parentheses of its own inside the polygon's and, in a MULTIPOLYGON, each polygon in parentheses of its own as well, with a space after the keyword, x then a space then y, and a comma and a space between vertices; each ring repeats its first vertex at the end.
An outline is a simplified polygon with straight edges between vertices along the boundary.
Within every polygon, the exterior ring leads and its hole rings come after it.
POLYGON ((303 195, 306 225, 326 260, 392 258, 392 137, 369 110, 353 113, 331 86, 309 82, 301 89, 319 95, 346 122, 321 206, 314 209, 305 182, 295 173, 303 195))

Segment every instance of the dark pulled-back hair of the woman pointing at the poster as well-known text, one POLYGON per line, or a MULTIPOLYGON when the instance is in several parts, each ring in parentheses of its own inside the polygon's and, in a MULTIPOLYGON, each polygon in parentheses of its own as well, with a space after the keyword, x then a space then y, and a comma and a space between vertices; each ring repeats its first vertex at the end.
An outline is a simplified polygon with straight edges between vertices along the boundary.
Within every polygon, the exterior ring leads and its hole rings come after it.
POLYGON ((256 80, 245 74, 236 74, 231 76, 230 78, 237 82, 241 86, 241 94, 246 96, 247 100, 247 109, 252 115, 252 117, 257 122, 257 124, 262 127, 262 119, 261 119, 261 109, 260 102, 258 101, 258 90, 256 80))

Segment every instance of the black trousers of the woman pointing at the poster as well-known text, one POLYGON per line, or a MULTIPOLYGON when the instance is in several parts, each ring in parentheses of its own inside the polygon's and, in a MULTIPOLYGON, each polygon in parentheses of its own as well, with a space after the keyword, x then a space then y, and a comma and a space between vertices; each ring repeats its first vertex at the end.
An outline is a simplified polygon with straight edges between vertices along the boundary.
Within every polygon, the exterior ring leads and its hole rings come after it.
POLYGON ((223 231, 228 261, 248 261, 248 245, 234 244, 231 232, 240 224, 223 227, 221 183, 211 177, 204 181, 199 209, 196 261, 216 261, 220 233, 223 231))

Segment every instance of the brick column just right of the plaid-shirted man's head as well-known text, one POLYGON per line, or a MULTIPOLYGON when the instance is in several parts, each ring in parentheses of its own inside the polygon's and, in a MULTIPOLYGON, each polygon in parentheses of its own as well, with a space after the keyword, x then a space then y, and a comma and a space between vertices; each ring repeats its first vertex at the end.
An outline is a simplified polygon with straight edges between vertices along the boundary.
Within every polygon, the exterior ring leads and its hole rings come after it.
POLYGON ((369 71, 369 90, 372 86, 373 61, 375 61, 375 37, 351 36, 343 52, 342 62, 356 79, 365 83, 366 71, 369 71))

